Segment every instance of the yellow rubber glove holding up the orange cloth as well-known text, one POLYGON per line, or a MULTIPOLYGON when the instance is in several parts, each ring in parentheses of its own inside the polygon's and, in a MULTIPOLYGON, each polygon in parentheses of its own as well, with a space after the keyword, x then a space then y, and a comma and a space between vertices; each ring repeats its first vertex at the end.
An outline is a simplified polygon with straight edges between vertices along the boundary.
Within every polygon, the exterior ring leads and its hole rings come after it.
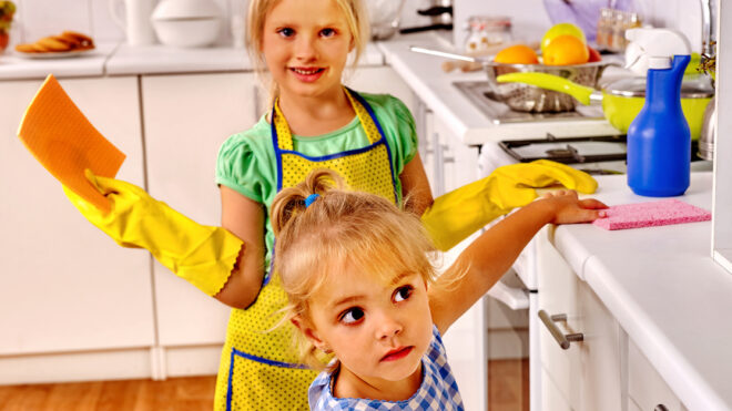
POLYGON ((67 197, 89 222, 122 247, 150 250, 209 296, 223 288, 244 245, 241 239, 222 227, 193 222, 134 184, 94 176, 89 169, 87 178, 112 203, 105 214, 64 186, 67 197))

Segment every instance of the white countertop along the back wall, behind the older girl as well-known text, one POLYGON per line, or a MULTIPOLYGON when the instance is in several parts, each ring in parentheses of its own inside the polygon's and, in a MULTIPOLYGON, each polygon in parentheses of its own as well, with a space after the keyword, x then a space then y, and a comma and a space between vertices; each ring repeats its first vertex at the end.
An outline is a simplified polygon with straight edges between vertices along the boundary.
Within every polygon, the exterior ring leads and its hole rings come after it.
MULTIPOLYGON (((384 65, 384 54, 368 43, 359 66, 384 65)), ((232 47, 181 49, 161 44, 131 47, 102 43, 89 54, 64 59, 27 59, 14 51, 0 55, 0 80, 230 72, 254 70, 245 49, 232 47)))

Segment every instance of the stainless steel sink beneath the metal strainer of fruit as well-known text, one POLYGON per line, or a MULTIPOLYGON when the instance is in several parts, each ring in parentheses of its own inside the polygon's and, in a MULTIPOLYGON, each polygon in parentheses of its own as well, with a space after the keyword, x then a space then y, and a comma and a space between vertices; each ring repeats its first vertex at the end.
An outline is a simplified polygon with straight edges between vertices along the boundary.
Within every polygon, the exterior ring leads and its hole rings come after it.
POLYGON ((514 111, 496 100, 488 81, 456 81, 453 82, 453 85, 462 92, 494 124, 604 119, 599 104, 578 104, 575 111, 562 113, 525 113, 514 111))

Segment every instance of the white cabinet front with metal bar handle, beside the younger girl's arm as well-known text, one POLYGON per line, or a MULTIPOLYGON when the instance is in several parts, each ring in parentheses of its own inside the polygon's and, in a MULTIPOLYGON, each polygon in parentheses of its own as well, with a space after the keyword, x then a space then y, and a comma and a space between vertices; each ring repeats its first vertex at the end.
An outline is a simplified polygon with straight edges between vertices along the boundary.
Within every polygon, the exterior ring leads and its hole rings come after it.
MULTIPOLYGON (((549 331, 551 326, 540 326, 541 364, 559 390, 559 393, 542 391, 542 395, 561 395, 575 410, 620 410, 621 364, 627 361, 621 347, 627 336, 587 282, 549 244, 552 230, 545 227, 536 237, 539 310, 551 316, 553 321, 549 322, 563 335, 581 333, 583 340, 562 349, 549 331), (557 319, 558 315, 566 319, 557 319)), ((543 384, 542 389, 550 386, 543 384)))

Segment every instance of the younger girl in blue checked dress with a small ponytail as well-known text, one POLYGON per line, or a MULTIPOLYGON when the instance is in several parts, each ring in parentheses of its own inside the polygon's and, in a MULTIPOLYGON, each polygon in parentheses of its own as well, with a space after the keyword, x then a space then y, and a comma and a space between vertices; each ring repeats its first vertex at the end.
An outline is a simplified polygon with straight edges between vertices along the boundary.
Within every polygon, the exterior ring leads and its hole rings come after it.
POLYGON ((383 197, 331 188, 316 171, 273 204, 275 268, 313 367, 314 410, 461 410, 440 336, 547 223, 591 222, 606 206, 557 192, 485 232, 435 279, 417 217, 383 197), (322 367, 321 367, 322 368, 322 367))

